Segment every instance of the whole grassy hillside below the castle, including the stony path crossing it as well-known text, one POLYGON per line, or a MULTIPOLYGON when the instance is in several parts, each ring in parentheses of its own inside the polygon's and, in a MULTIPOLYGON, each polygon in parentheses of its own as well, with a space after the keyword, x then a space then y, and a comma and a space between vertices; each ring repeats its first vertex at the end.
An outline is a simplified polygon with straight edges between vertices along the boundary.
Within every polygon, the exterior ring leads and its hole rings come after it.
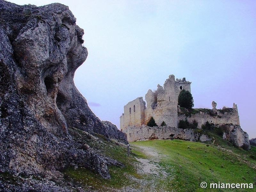
MULTIPOLYGON (((80 133, 77 138, 86 138, 83 131, 80 133)), ((200 188, 200 183, 205 181, 208 185, 218 182, 254 183, 253 189, 232 191, 256 191, 255 147, 246 151, 218 137, 214 145, 184 140, 149 140, 131 142, 132 150, 128 157, 126 146, 108 141, 100 135, 97 138, 97 142, 91 139, 84 142, 125 166, 109 166, 111 179, 103 179, 84 168, 67 168, 63 174, 70 186, 90 191, 210 191, 209 187, 200 188), (158 155, 145 154, 141 147, 152 149, 158 155), (140 163, 141 159, 158 172, 137 171, 146 166, 140 163)))

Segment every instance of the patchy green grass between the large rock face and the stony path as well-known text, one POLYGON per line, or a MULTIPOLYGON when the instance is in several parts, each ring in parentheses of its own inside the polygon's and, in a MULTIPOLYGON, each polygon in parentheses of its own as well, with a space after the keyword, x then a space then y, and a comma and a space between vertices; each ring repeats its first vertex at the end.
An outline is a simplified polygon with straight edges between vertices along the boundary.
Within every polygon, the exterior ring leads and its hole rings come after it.
POLYGON ((131 177, 141 179, 142 176, 139 175, 134 167, 137 163, 135 157, 142 158, 146 157, 141 151, 134 148, 130 152, 130 156, 127 156, 127 147, 123 144, 119 144, 115 141, 107 140, 103 135, 95 134, 97 137, 95 141, 92 137, 81 130, 75 129, 71 132, 76 141, 80 143, 87 144, 90 148, 98 151, 98 153, 103 156, 109 156, 117 161, 121 162, 125 166, 114 166, 109 165, 108 170, 111 175, 111 179, 104 179, 98 173, 93 170, 79 167, 75 169, 74 167, 68 167, 62 171, 66 182, 68 182, 73 187, 82 186, 89 190, 96 191, 111 191, 112 188, 120 189, 124 186, 133 186, 138 188, 138 184, 131 180, 131 177))

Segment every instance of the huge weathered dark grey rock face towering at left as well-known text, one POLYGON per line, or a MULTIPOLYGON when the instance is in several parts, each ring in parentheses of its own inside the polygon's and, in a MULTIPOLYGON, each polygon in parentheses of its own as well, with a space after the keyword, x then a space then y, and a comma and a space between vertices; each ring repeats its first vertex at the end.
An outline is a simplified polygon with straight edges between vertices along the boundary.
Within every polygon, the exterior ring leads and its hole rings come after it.
POLYGON ((77 128, 127 142, 92 113, 75 87, 74 73, 88 54, 83 35, 65 5, 0 0, 1 171, 51 175, 74 165, 109 178, 107 164, 119 164, 78 149, 68 132, 77 128))

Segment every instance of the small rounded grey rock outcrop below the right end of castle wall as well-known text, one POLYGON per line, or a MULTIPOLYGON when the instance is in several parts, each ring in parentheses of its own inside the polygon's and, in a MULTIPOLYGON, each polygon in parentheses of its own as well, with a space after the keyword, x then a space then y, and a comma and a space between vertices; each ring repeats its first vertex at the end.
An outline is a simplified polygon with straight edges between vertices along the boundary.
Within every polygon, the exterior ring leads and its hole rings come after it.
POLYGON ((233 143, 234 146, 250 149, 249 136, 239 125, 226 124, 226 130, 223 133, 223 139, 233 143))

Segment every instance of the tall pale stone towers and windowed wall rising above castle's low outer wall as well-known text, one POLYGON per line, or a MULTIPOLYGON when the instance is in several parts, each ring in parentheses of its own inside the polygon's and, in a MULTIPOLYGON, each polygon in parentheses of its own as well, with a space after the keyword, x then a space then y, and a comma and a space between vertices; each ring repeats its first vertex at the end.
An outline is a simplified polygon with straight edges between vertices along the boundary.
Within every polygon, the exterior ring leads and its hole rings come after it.
POLYGON ((167 126, 178 127, 178 96, 183 89, 191 92, 190 84, 185 78, 175 80, 174 75, 170 75, 163 87, 158 84, 156 91, 148 90, 147 107, 142 97, 130 101, 120 116, 120 130, 124 131, 128 125, 146 124, 151 116, 157 125, 164 121, 167 126))

